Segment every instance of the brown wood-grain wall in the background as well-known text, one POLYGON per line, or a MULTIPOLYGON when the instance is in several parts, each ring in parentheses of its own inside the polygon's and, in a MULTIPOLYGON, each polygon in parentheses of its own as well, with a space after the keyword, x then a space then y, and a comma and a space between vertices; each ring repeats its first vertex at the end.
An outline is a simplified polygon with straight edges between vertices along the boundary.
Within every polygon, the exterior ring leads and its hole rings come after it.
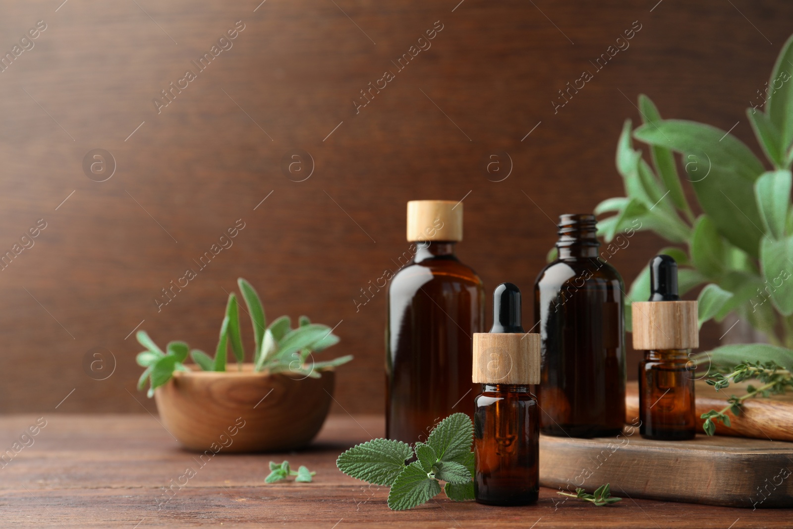
MULTIPOLYGON (((0 73, 0 250, 46 224, 0 272, 0 410, 153 410, 134 389, 128 335, 143 321, 159 343, 213 350, 225 291, 243 276, 270 318, 338 323, 331 351, 356 358, 339 370, 335 410, 381 412, 385 292, 354 300, 406 249, 405 201, 465 197, 462 259, 488 291, 531 291, 551 219, 622 194, 615 142, 639 93, 667 117, 738 122, 757 151, 744 109, 793 4, 36 0, 0 13, 0 50, 29 48, 0 73), (37 21, 46 29, 19 44, 37 21), (191 61, 235 25, 220 43, 232 47, 199 71, 191 61), (630 48, 554 113, 557 90, 634 25, 630 48), (433 26, 431 48, 397 71, 433 26), (152 100, 188 69, 195 79, 158 113, 152 100), (395 79, 356 113, 385 70, 395 79), (115 160, 105 182, 83 170, 94 149, 115 160), (303 182, 281 168, 293 149, 313 160, 303 182), (492 182, 484 160, 502 152, 513 167, 492 182), (238 219, 232 247, 158 309, 161 289, 238 219), (86 374, 94 347, 105 380, 86 374)), ((630 282, 659 247, 635 236, 613 263, 630 282)), ((706 335, 713 346, 721 332, 706 335)))

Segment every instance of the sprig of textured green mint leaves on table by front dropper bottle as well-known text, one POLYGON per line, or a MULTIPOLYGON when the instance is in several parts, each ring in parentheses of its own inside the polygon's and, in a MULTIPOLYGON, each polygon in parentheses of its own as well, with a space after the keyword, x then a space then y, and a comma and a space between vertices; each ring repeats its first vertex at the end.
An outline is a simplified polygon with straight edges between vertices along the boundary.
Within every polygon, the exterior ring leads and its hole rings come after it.
POLYGON ((473 500, 473 424, 454 413, 433 428, 427 443, 372 439, 339 455, 336 466, 348 476, 391 487, 389 508, 414 508, 443 491, 453 501, 473 500), (406 465, 408 460, 416 461, 406 465))

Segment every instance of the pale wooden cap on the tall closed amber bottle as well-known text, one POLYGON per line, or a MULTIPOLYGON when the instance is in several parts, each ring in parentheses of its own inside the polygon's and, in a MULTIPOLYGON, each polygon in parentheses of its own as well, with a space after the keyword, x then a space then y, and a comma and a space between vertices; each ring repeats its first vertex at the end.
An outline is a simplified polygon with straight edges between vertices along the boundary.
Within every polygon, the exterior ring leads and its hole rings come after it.
POLYGON ((462 240, 462 201, 408 202, 408 242, 462 240))

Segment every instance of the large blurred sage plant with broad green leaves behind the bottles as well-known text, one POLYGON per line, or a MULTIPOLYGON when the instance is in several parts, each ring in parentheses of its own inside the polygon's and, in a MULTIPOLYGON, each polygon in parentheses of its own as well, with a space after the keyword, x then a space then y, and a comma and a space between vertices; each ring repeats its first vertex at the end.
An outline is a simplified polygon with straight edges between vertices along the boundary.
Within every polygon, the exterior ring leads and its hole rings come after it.
MULTIPOLYGON (((793 370, 791 72, 793 36, 776 59, 764 108, 746 110, 764 160, 729 131, 663 119, 653 102, 640 95, 642 125, 633 128, 627 120, 617 145, 616 166, 626 196, 609 198, 595 209, 597 215, 614 213, 598 223, 607 243, 623 230, 636 229, 635 220, 640 223, 638 230, 655 232, 671 243, 658 253, 671 255, 680 266, 681 294, 702 287, 700 325, 721 321, 733 312, 768 337, 771 345, 726 345, 699 355, 709 359, 711 370, 722 374, 757 362, 793 370), (644 151, 634 148, 634 139, 647 144, 649 162, 644 151), (675 155, 697 208, 686 199, 675 155)), ((646 266, 630 286, 627 301, 648 297, 646 266)), ((626 307, 628 330, 630 324, 626 307)))

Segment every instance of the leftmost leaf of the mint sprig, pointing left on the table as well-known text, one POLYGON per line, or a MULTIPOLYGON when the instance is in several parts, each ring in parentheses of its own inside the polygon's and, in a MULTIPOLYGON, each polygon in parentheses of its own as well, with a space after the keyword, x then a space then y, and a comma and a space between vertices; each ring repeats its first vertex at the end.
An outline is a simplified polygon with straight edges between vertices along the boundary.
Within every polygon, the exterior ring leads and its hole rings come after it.
MULTIPOLYGON (((374 485, 391 486, 413 456, 407 443, 391 439, 372 439, 352 447, 336 459, 336 466, 347 476, 374 485)), ((424 473, 426 476, 426 472, 424 473)))

